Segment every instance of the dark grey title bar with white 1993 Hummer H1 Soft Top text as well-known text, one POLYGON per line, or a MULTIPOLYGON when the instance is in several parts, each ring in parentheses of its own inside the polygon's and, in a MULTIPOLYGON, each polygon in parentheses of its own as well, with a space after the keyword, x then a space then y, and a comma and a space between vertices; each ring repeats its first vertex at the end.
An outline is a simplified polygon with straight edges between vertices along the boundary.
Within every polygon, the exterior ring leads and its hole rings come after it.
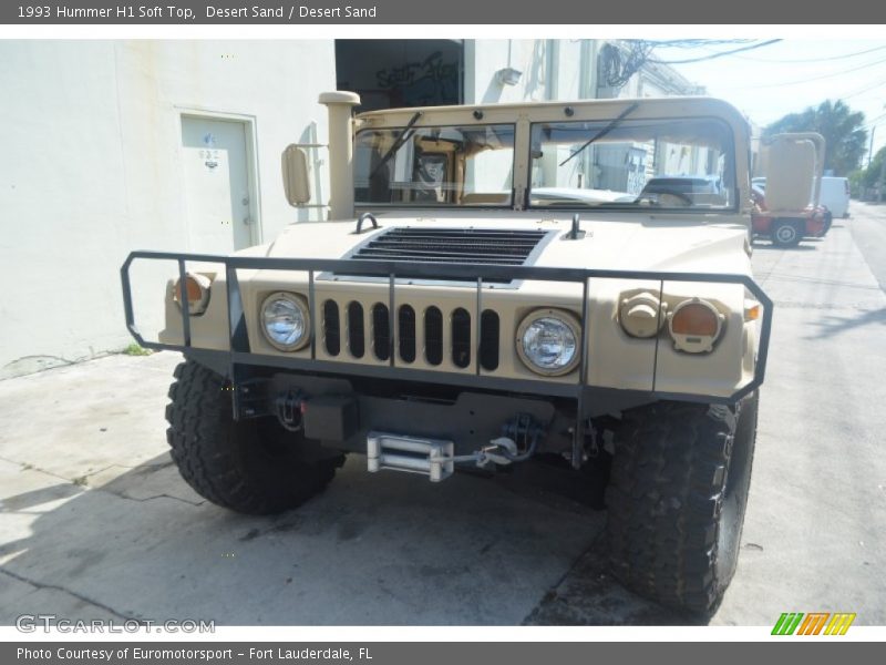
MULTIPOLYGON (((786 0, 4 0, 0 24, 876 24, 886 2, 786 0)), ((838 32, 838 31, 837 31, 838 32)), ((662 33, 662 39, 666 35, 662 33)))

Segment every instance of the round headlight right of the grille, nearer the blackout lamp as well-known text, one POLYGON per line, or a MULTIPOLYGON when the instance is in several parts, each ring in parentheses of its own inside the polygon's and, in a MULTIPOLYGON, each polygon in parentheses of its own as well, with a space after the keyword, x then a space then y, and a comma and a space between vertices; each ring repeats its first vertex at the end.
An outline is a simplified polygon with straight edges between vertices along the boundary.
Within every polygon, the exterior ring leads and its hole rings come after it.
POLYGON ((535 372, 565 375, 575 369, 581 357, 580 330, 578 319, 566 311, 534 311, 517 329, 517 355, 535 372))

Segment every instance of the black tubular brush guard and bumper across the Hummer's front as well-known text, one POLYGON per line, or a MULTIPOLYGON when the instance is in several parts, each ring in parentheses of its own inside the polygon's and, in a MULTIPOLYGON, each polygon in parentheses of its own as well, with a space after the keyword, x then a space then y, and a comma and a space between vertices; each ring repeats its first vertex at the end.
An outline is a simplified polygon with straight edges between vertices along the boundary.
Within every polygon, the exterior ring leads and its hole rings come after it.
MULTIPOLYGON (((176 254, 176 253, 162 253, 162 252, 133 252, 121 268, 121 277, 123 282, 124 307, 126 314, 126 326, 133 337, 146 348, 153 349, 171 349, 185 352, 194 357, 196 360, 216 369, 223 376, 228 377, 234 387, 244 385, 254 378, 255 368, 276 369, 278 371, 288 372, 292 376, 320 376, 328 379, 348 379, 360 377, 362 379, 375 379, 380 381, 392 381, 402 386, 409 387, 410 385, 443 385, 460 388, 462 393, 484 393, 486 399, 490 395, 498 396, 518 396, 516 399, 523 400, 525 398, 544 400, 571 400, 575 405, 574 417, 571 418, 574 427, 570 428, 568 436, 571 439, 573 459, 580 459, 580 448, 585 441, 585 428, 587 419, 595 415, 607 412, 609 410, 617 410, 619 408, 628 408, 638 403, 656 401, 660 399, 678 399, 684 401, 700 401, 708 403, 734 403, 745 395, 756 390, 763 382, 766 366, 766 356, 769 349, 769 338, 772 325, 772 301, 765 293, 753 282, 748 275, 729 275, 729 274, 700 274, 700 273, 667 273, 667 272, 641 272, 641 270, 601 270, 601 269, 587 269, 587 268, 554 268, 554 267, 528 267, 528 266, 496 266, 496 265, 474 265, 474 264, 423 264, 423 263, 406 263, 406 262, 388 262, 388 260, 373 260, 360 262, 359 265, 354 262, 348 260, 327 260, 327 259, 303 259, 303 258, 278 258, 278 257, 256 257, 256 256, 209 256, 209 255, 195 255, 195 254, 176 254), (228 339, 227 348, 223 349, 202 349, 192 344, 192 315, 188 311, 187 304, 181 308, 182 316, 182 341, 181 344, 174 342, 159 342, 150 341, 142 337, 140 334, 134 318, 132 289, 130 283, 130 266, 136 259, 147 260, 174 260, 178 265, 179 279, 184 280, 187 274, 186 262, 199 262, 203 264, 213 263, 222 264, 224 266, 224 299, 226 304, 227 324, 228 324, 228 339), (396 294, 398 294, 398 274, 405 274, 412 277, 425 274, 429 278, 434 279, 450 279, 456 280, 462 284, 475 284, 475 313, 477 316, 474 318, 475 337, 474 339, 482 339, 481 320, 478 316, 481 309, 481 299, 483 297, 484 282, 494 280, 536 280, 542 283, 559 282, 559 283, 574 283, 580 285, 580 317, 581 321, 581 340, 580 340, 580 362, 575 371, 574 380, 545 380, 545 377, 532 377, 515 379, 513 377, 490 376, 482 371, 480 365, 480 354, 473 355, 475 366, 465 368, 461 372, 452 371, 429 371, 422 369, 414 369, 404 367, 396 361, 396 354, 394 352, 394 336, 390 336, 391 354, 390 362, 385 364, 344 364, 332 362, 318 357, 317 349, 317 335, 311 336, 310 348, 300 356, 286 356, 281 354, 271 355, 268 352, 256 351, 250 347, 250 337, 248 334, 247 321, 244 315, 244 299, 239 287, 238 270, 290 270, 307 273, 307 299, 310 310, 311 321, 317 321, 316 313, 317 296, 316 296, 316 275, 320 273, 332 273, 342 275, 361 275, 381 277, 388 284, 388 311, 395 311, 396 294), (648 390, 617 390, 611 387, 595 386, 589 382, 588 377, 588 327, 590 317, 589 303, 589 284, 595 279, 618 279, 618 280, 640 280, 641 283, 658 283, 659 288, 663 289, 666 282, 674 283, 708 283, 719 285, 742 285, 756 300, 763 306, 763 315, 760 320, 759 346, 755 354, 755 364, 753 366, 753 374, 746 382, 735 386, 727 393, 715 393, 711 390, 704 392, 670 392, 661 390, 656 385, 655 372, 651 376, 650 389, 648 390)), ((635 282, 636 283, 636 282, 635 282)), ((214 297, 219 297, 218 295, 214 297)), ((392 314, 391 314, 392 316, 392 314)), ((393 320, 391 320, 391 330, 394 330, 393 320)), ((253 340, 255 344, 255 340, 253 340)), ((651 341, 655 349, 655 358, 659 358, 660 338, 651 341)), ((260 348, 260 347, 259 347, 260 348)), ((664 349, 661 349, 663 355, 664 349)), ((653 362, 655 367, 658 364, 653 362)), ((291 380, 291 379, 290 379, 291 380)), ((353 390, 351 390, 353 392, 353 390)), ((409 390, 405 390, 409 392, 409 390)), ((358 407, 362 407, 368 413, 379 413, 379 418, 387 418, 388 405, 380 403, 375 398, 371 397, 371 392, 357 391, 358 407)), ((245 411, 241 405, 243 396, 238 390, 233 391, 233 407, 235 418, 241 417, 245 411)), ((507 398, 513 399, 513 398, 507 398)), ((543 400, 543 401, 544 401, 543 400)), ((464 407, 468 401, 459 402, 456 399, 449 409, 455 411, 440 411, 431 412, 434 409, 431 407, 422 407, 430 416, 434 418, 462 418, 465 421, 463 410, 470 407, 464 407)), ((402 407, 402 403, 399 405, 402 407)), ((512 410, 519 410, 526 406, 535 408, 536 402, 524 405, 519 401, 512 410)), ((508 407, 509 408, 509 407, 508 407)), ((532 411, 533 409, 528 409, 532 411)), ((563 409, 559 409, 563 410, 563 409)), ((494 421, 495 419, 493 419, 494 421)), ((365 423, 371 427, 375 418, 369 419, 365 423)), ((362 422, 362 421, 361 421, 362 422)), ((437 420, 439 422, 439 420, 437 420)), ((359 426, 365 429, 363 424, 359 426)), ((484 430, 484 436, 488 433, 488 428, 494 427, 488 424, 484 430)), ((359 431, 362 431, 360 429, 359 431)), ((468 428, 470 430, 471 428, 468 428)), ((476 428, 474 428, 476 429, 476 428)), ((359 433, 359 432, 358 432, 359 433)), ((414 432, 413 432, 414 433, 414 432)), ((357 436, 357 434, 354 434, 357 436)))

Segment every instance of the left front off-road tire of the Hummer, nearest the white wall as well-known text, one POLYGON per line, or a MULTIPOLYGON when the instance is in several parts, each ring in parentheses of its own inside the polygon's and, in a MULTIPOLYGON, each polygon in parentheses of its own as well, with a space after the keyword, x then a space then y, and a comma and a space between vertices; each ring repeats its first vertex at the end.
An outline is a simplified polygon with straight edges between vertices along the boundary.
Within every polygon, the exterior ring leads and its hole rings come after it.
POLYGON ((235 422, 229 386, 206 367, 188 360, 174 376, 166 439, 182 478, 208 501, 248 514, 282 512, 320 492, 343 463, 274 418, 235 422))

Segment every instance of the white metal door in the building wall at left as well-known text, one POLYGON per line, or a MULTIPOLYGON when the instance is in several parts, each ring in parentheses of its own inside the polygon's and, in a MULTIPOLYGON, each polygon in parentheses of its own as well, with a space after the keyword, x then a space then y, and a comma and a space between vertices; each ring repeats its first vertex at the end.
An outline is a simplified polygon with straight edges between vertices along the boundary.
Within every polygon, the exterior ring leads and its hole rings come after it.
POLYGON ((254 245, 245 124, 183 115, 182 153, 192 248, 228 254, 254 245))

